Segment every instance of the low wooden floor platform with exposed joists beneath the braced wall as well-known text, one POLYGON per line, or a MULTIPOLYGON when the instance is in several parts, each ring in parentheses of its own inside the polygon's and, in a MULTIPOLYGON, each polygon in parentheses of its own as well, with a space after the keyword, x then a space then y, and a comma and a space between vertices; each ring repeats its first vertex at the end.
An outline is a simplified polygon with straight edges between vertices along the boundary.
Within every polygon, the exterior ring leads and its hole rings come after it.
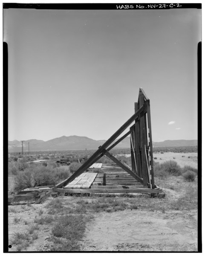
POLYGON ((143 184, 135 180, 130 174, 115 163, 103 164, 102 173, 85 172, 76 177, 63 188, 55 187, 54 192, 64 194, 162 194, 162 189, 144 188, 143 184), (105 182, 103 177, 105 175, 105 182))

